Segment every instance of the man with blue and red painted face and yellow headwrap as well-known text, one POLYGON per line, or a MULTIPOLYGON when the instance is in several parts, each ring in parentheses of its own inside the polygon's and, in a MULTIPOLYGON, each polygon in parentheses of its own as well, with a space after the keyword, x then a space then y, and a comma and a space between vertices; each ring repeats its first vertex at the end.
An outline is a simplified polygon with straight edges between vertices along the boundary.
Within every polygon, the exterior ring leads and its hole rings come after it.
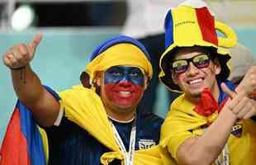
MULTIPOLYGON (((28 118, 43 128, 30 144, 47 137, 42 144, 46 158, 49 155, 48 164, 154 165, 168 161, 157 145, 163 120, 137 109, 152 78, 149 54, 140 42, 121 35, 102 43, 80 76, 83 85, 57 93, 43 86, 30 67, 41 38, 36 35, 28 45, 14 45, 3 55, 3 62, 11 70, 19 98, 17 113, 22 117, 24 111, 31 111, 33 117, 28 118)), ((17 122, 23 128, 22 120, 17 122)), ((7 142, 19 140, 10 140, 8 130, 2 145, 2 163, 12 164, 8 155, 12 155, 13 148, 7 142)), ((40 155, 39 143, 36 145, 35 154, 30 155, 31 164, 41 163, 34 158, 36 153, 40 155)))

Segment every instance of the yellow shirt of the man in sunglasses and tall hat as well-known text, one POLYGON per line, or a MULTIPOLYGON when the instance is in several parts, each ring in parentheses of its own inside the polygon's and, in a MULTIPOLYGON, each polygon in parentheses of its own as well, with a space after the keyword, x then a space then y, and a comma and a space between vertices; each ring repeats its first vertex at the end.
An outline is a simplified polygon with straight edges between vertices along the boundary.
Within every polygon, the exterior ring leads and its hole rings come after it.
MULTIPOLYGON (((224 97, 221 101, 223 100, 224 97)), ((196 111, 193 111, 195 106, 192 102, 187 101, 183 94, 173 101, 171 110, 162 125, 160 146, 168 148, 175 159, 177 159, 178 146, 185 139, 203 134, 204 130, 201 129, 201 126, 216 120, 218 115, 217 112, 208 117, 198 115, 196 111)), ((241 126, 242 134, 240 137, 230 134, 228 139, 230 164, 253 165, 256 158, 256 123, 253 120, 241 120, 236 125, 241 126)), ((220 134, 213 135, 219 136, 220 134)))

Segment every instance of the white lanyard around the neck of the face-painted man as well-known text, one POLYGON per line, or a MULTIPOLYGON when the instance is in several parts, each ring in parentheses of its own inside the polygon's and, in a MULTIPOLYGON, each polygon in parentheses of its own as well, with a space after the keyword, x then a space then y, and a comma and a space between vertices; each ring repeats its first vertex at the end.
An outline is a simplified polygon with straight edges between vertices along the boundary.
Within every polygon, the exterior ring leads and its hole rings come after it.
POLYGON ((109 120, 114 130, 114 135, 116 139, 116 143, 118 144, 119 148, 121 149, 122 153, 124 154, 125 158, 125 165, 133 165, 133 158, 135 154, 135 138, 136 138, 136 118, 132 122, 132 127, 130 130, 130 144, 129 144, 129 151, 126 151, 125 144, 123 143, 120 135, 118 134, 115 125, 113 125, 112 121, 109 120))

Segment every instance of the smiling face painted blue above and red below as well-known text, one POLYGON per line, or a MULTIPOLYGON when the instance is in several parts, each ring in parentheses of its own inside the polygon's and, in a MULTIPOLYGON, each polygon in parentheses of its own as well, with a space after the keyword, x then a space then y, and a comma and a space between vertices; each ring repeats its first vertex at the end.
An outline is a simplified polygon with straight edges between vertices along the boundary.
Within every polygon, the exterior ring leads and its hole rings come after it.
POLYGON ((135 106, 143 95, 145 74, 137 67, 115 66, 104 73, 104 92, 119 106, 135 106))

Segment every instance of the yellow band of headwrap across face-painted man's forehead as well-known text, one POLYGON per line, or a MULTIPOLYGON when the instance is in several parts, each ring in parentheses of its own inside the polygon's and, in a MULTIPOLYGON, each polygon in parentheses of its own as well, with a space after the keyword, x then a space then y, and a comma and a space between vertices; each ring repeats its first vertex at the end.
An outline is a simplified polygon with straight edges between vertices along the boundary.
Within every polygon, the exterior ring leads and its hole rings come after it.
POLYGON ((95 59, 89 63, 85 71, 89 73, 90 79, 93 80, 95 73, 107 70, 113 66, 126 65, 143 68, 149 78, 152 78, 153 69, 146 58, 145 53, 132 44, 116 44, 97 55, 95 59))

